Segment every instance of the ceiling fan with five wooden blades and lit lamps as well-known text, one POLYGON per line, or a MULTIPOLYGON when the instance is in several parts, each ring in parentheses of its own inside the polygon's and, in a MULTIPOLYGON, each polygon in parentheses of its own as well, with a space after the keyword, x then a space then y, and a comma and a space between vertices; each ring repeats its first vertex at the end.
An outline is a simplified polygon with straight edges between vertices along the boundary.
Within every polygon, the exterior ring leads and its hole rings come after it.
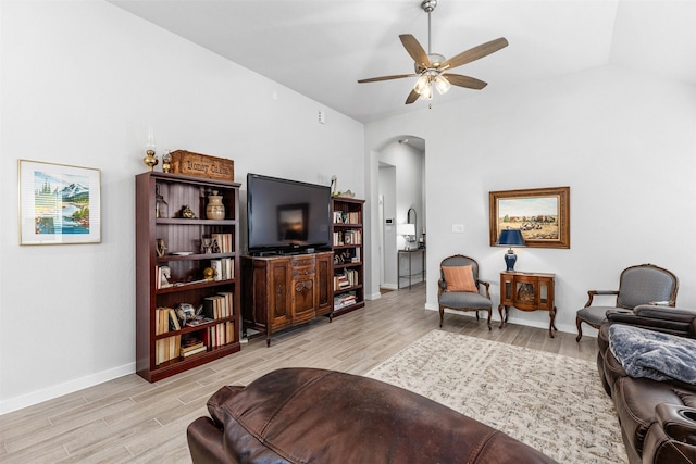
POLYGON ((456 57, 446 60, 445 57, 438 53, 431 52, 431 12, 437 7, 437 0, 423 0, 421 8, 427 13, 427 53, 423 50, 423 47, 419 41, 410 34, 402 34, 399 36, 401 43, 406 51, 411 55, 414 61, 415 73, 413 74, 396 74, 393 76, 372 77, 370 79, 360 79, 359 84, 376 83, 380 80, 401 79, 405 77, 419 76, 413 86, 413 90, 406 99, 406 104, 413 103, 419 98, 423 100, 433 99, 433 87, 437 89, 437 92, 443 95, 455 85, 458 87, 465 87, 469 89, 481 90, 487 83, 478 80, 474 77, 462 76, 461 74, 448 73, 462 64, 471 63, 472 61, 484 58, 490 53, 494 53, 501 48, 508 46, 508 40, 504 37, 499 39, 490 40, 489 42, 482 43, 477 47, 469 49, 459 53, 456 57))

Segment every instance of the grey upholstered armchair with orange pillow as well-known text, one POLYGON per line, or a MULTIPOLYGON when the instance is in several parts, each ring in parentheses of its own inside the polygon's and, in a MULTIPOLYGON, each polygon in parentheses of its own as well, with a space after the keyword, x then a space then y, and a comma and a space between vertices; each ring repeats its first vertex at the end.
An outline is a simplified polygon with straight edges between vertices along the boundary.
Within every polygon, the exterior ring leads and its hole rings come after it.
POLYGON ((478 279, 478 263, 473 258, 456 254, 445 258, 439 265, 440 278, 437 281, 437 303, 439 305, 439 326, 443 327, 445 308, 456 311, 488 312, 488 330, 493 313, 489 284, 478 279), (485 292, 485 294, 483 293, 485 292))

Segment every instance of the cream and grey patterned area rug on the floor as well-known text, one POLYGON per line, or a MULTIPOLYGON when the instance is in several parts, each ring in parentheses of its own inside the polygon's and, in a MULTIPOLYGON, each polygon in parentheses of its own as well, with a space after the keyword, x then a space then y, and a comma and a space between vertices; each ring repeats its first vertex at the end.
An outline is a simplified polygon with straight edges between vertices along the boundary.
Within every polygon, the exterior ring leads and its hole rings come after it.
POLYGON ((433 330, 366 377, 420 393, 561 463, 627 463, 594 362, 433 330))

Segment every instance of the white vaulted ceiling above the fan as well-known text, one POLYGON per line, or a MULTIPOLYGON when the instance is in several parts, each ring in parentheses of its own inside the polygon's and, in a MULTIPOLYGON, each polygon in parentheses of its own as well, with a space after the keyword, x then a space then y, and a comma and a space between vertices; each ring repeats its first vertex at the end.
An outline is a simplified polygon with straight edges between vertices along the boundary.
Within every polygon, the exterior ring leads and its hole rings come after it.
MULTIPOLYGON (((413 72, 398 36, 428 49, 421 0, 109 1, 358 121, 427 104, 405 105, 415 77, 357 83, 413 72)), ((452 87, 433 104, 606 64, 696 85, 696 1, 438 0, 431 22, 431 51, 446 58, 510 42, 453 71, 486 88, 452 87)))

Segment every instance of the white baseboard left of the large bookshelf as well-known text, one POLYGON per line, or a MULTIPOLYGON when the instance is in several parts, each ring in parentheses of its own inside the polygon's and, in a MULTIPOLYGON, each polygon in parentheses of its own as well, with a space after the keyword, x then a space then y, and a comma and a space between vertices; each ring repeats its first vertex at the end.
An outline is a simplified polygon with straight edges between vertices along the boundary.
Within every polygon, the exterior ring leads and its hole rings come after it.
POLYGON ((84 388, 94 387, 114 378, 135 373, 135 363, 125 364, 108 371, 102 371, 85 377, 76 378, 64 384, 54 385, 44 390, 33 391, 21 397, 0 401, 0 415, 32 406, 44 401, 52 400, 63 394, 72 393, 84 388))

